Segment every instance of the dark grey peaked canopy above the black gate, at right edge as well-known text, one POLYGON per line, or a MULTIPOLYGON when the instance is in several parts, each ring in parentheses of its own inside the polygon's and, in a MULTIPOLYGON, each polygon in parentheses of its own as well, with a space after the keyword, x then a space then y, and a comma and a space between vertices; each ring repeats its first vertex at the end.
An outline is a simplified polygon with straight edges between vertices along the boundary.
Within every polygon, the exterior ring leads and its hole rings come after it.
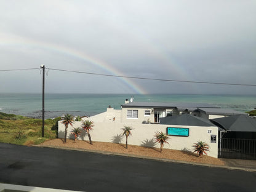
POLYGON ((226 118, 210 119, 218 127, 234 132, 256 132, 256 119, 245 114, 236 114, 226 118))

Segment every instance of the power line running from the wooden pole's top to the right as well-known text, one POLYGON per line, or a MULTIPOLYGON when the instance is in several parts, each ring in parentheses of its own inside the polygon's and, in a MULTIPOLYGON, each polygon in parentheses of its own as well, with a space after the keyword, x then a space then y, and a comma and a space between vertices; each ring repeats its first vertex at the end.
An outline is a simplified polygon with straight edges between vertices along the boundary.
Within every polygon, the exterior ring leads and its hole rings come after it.
POLYGON ((200 83, 200 84, 219 84, 219 85, 228 85, 228 86, 256 86, 256 84, 236 84, 236 83, 226 83, 226 82, 182 81, 182 80, 173 80, 173 79, 139 78, 139 77, 134 77, 134 76, 119 76, 119 75, 113 75, 113 74, 89 73, 89 72, 84 72, 84 71, 60 70, 60 69, 54 69, 54 68, 46 68, 46 69, 54 70, 54 71, 72 72, 72 73, 92 74, 92 75, 98 75, 98 76, 110 76, 110 77, 116 77, 116 78, 130 78, 130 79, 144 79, 144 80, 153 80, 153 81, 190 82, 190 83, 200 83))

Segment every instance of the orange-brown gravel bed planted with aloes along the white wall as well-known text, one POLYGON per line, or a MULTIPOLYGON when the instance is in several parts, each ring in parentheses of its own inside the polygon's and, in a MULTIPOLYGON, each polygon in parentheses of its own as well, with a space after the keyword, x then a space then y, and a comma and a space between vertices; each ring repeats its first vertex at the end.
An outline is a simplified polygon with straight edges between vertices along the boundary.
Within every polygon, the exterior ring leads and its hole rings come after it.
MULTIPOLYGON (((115 153, 126 153, 126 154, 136 154, 140 156, 150 156, 154 158, 174 159, 174 160, 180 160, 180 161, 199 162, 204 164, 214 164, 214 165, 221 165, 221 166, 225 165, 225 162, 223 162, 220 159, 212 158, 207 155, 198 157, 196 153, 191 153, 190 151, 163 149, 161 153, 159 148, 128 145, 128 148, 126 149, 125 144, 94 142, 94 141, 92 141, 92 143, 93 145, 90 145, 90 143, 86 140, 77 140, 76 142, 74 142, 74 140, 72 139, 67 139, 66 143, 63 143, 62 138, 56 138, 53 140, 47 140, 46 142, 41 143, 40 145, 81 148, 86 150, 109 151, 109 152, 115 152, 115 153)), ((129 144, 129 140, 128 140, 128 144, 129 144)))

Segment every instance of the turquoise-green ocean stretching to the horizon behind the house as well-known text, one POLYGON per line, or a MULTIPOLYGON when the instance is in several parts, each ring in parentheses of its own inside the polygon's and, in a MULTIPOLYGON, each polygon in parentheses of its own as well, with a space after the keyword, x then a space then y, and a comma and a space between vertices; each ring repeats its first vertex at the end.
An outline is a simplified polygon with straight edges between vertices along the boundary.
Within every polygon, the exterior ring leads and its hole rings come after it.
MULTIPOLYGON (((241 112, 256 108, 256 95, 190 95, 190 94, 46 94, 45 118, 69 113, 93 116, 106 111, 110 105, 121 109, 126 98, 134 102, 209 103, 241 112)), ((0 94, 0 112, 42 117, 42 94, 0 94)))

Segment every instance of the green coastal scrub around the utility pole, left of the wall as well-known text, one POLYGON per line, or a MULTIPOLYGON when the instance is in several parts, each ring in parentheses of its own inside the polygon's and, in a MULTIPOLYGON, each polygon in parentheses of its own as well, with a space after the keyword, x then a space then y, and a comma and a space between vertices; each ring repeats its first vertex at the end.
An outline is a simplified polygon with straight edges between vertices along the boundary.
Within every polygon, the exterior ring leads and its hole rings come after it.
POLYGON ((46 119, 44 137, 42 135, 42 119, 0 112, 0 142, 17 145, 38 145, 46 140, 57 138, 57 130, 52 127, 59 118, 46 119))

